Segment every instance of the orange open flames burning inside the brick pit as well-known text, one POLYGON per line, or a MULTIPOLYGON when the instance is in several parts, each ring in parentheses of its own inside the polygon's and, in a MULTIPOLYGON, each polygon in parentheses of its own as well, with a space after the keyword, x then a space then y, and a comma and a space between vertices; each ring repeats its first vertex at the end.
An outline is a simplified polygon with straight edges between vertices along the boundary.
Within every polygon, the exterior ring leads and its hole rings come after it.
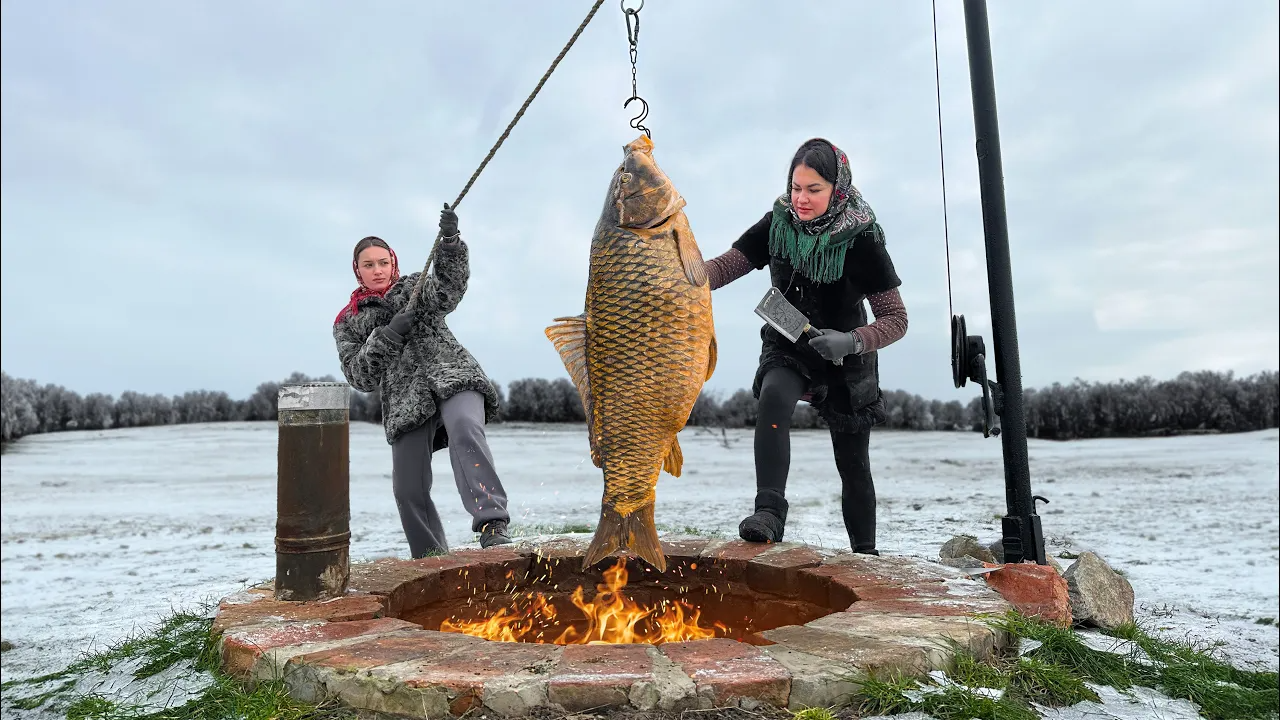
POLYGON ((721 623, 703 626, 701 611, 684 600, 663 601, 657 607, 639 605, 622 593, 626 584, 626 561, 620 557, 604 571, 604 583, 595 585, 590 602, 584 598, 582 585, 573 591, 570 600, 584 618, 564 618, 547 596, 530 592, 516 596, 513 611, 502 607, 485 620, 448 619, 440 623, 440 630, 489 641, 553 644, 658 644, 714 638, 717 630, 719 637, 730 633, 721 623))

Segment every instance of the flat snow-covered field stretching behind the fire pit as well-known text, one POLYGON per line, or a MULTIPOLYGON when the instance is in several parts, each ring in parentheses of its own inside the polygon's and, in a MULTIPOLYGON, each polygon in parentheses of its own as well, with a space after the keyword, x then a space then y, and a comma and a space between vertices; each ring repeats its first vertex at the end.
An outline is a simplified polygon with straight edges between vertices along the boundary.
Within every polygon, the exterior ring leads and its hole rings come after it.
MULTIPOLYGON (((1093 550, 1125 571, 1139 620, 1225 641, 1236 662, 1277 666, 1280 433, 1032 441, 1050 552, 1093 550)), ((581 427, 495 425, 490 443, 512 532, 593 525, 599 471, 581 427)), ((663 475, 658 523, 735 537, 754 496, 750 430, 687 429, 685 475, 663 475)), ((60 667, 170 607, 216 601, 274 573, 274 423, 35 436, 3 456, 0 574, 5 680, 60 667)), ((879 432, 872 465, 879 548, 936 557, 955 534, 995 539, 1005 511, 1000 441, 879 432)), ((407 557, 381 428, 352 425, 352 559, 407 557)), ((447 452, 434 497, 453 546, 475 544, 447 452)), ((847 547, 826 432, 792 439, 788 541, 847 547)), ((1070 561, 1064 560, 1066 565, 1070 561)))

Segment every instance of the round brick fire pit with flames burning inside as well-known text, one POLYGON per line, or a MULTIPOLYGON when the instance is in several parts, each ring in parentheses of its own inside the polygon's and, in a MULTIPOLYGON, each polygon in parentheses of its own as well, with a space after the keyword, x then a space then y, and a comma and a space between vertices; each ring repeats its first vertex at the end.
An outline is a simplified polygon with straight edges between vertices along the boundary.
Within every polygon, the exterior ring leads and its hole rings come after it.
POLYGON ((1009 605, 980 579, 911 559, 741 541, 663 542, 667 571, 585 541, 351 566, 337 600, 227 598, 223 665, 303 701, 417 717, 618 706, 826 706, 872 670, 924 674, 947 639, 989 655, 972 618, 1009 605))

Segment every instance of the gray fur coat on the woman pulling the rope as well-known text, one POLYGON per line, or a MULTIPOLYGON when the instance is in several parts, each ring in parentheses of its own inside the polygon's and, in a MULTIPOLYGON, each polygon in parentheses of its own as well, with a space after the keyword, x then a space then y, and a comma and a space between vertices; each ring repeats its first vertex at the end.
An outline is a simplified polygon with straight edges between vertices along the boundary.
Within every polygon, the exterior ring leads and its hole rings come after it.
MULTIPOLYGON (((466 243, 461 240, 440 243, 412 329, 401 337, 387 323, 408 302, 419 275, 403 275, 387 295, 361 300, 358 313, 333 327, 347 382, 364 392, 381 392, 383 428, 392 445, 435 415, 440 402, 462 391, 474 389, 484 396, 486 423, 498 418, 497 388, 444 323, 467 291, 471 266, 466 243)), ((440 425, 434 450, 447 445, 440 425)))

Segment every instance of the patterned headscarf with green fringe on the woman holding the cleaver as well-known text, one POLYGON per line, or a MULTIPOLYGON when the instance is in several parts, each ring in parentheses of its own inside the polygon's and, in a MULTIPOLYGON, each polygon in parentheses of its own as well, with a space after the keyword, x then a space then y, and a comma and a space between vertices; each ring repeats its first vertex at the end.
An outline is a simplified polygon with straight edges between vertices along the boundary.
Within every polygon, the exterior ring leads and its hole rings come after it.
POLYGON ((849 156, 820 137, 805 145, 814 141, 827 143, 836 154, 836 184, 831 191, 831 202, 822 215, 801 220, 791 206, 788 174, 787 191, 773 204, 769 252, 791 263, 806 278, 828 283, 844 274, 845 252, 860 232, 876 223, 876 213, 854 187, 849 156))

